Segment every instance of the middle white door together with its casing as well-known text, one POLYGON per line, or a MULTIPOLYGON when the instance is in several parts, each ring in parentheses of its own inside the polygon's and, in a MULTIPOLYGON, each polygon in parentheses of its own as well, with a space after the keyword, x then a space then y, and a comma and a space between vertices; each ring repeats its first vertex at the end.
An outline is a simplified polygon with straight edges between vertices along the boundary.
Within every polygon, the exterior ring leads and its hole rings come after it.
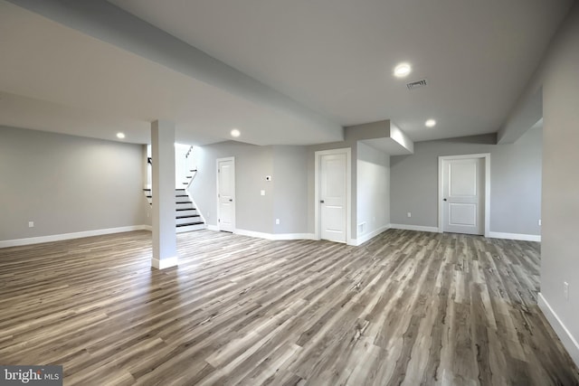
POLYGON ((316 152, 316 238, 350 242, 350 149, 316 152))

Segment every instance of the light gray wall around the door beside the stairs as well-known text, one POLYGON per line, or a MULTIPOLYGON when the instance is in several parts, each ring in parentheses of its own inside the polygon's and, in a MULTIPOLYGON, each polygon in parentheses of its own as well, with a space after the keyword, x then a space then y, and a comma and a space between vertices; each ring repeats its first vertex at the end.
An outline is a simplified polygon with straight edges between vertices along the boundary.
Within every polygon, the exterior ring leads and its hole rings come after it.
POLYGON ((216 160, 235 157, 235 228, 263 233, 304 233, 307 228, 307 153, 304 146, 253 146, 240 142, 195 148, 197 175, 190 192, 209 225, 217 225, 216 160), (266 176, 271 175, 271 181, 266 176), (261 195, 261 190, 265 195, 261 195), (276 225, 275 220, 280 219, 276 225))

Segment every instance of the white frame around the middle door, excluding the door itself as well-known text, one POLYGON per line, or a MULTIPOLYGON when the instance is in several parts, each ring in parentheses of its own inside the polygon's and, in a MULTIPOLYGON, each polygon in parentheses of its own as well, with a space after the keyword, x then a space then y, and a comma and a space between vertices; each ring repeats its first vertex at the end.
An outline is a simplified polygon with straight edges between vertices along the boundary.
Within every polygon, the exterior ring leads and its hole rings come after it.
POLYGON ((320 150, 315 153, 314 161, 314 238, 321 240, 321 218, 319 215, 319 183, 321 176, 319 167, 322 155, 346 154, 346 245, 352 245, 352 149, 344 147, 340 149, 320 150))

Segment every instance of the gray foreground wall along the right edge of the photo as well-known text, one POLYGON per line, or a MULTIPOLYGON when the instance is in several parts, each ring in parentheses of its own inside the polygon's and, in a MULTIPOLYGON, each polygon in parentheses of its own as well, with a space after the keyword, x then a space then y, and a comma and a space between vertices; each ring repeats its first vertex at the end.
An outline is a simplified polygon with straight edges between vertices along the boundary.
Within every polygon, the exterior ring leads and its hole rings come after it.
MULTIPOLYGON (((543 81, 541 294, 579 340, 579 3, 554 42, 543 81)), ((579 347, 563 342, 579 365, 579 347)))

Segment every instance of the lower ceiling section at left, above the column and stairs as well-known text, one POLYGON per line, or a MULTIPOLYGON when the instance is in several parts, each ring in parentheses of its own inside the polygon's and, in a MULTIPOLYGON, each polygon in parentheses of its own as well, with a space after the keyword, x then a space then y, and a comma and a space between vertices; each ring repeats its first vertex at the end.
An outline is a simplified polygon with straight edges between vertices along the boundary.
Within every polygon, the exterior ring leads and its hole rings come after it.
POLYGON ((122 131, 134 143, 149 142, 156 119, 195 145, 230 139, 233 127, 257 145, 341 137, 5 2, 0 36, 0 125, 113 140, 122 131))

